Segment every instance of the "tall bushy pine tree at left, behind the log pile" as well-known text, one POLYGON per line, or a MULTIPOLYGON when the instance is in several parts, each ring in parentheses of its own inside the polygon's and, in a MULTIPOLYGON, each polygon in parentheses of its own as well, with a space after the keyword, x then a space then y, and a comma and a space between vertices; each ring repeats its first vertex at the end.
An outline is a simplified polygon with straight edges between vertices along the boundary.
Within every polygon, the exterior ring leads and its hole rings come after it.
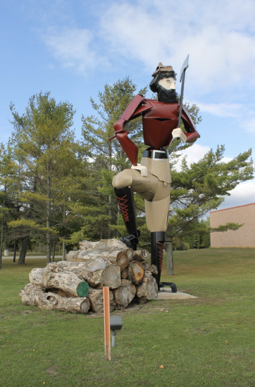
MULTIPOLYGON (((52 231, 56 227, 60 230, 59 226, 66 223, 64 211, 70 198, 69 176, 76 176, 79 170, 77 145, 70 129, 75 111, 68 102, 57 103, 49 92, 33 95, 22 115, 12 103, 10 110, 14 131, 9 148, 18 165, 19 195, 18 204, 13 204, 16 219, 9 226, 17 229, 21 220, 34 222, 37 228, 40 226, 40 231, 44 230, 41 237, 45 236, 50 262, 51 238, 56 235, 52 231)), ((19 227, 19 230, 21 244, 23 238, 28 246, 31 227, 19 227)), ((24 256, 20 257, 21 263, 24 256)))

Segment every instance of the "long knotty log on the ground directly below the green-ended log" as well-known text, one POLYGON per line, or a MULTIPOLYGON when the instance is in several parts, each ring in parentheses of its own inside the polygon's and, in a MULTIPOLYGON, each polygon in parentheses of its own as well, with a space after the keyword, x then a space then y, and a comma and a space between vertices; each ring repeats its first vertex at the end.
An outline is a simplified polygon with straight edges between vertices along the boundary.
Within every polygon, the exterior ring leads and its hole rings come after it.
POLYGON ((90 302, 86 297, 66 298, 57 294, 48 292, 34 285, 27 284, 19 292, 22 304, 38 306, 39 309, 58 310, 64 312, 87 313, 90 308, 90 302))

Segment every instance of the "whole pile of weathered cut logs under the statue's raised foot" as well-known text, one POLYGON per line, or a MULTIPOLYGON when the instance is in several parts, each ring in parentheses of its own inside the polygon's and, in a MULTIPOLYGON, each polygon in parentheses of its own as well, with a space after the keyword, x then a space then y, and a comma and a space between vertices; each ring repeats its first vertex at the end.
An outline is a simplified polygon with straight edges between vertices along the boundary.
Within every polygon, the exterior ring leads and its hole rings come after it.
POLYGON ((103 287, 108 286, 110 311, 125 309, 134 298, 141 303, 157 298, 152 276, 157 268, 148 259, 147 250, 133 251, 116 239, 82 241, 66 261, 33 269, 19 295, 24 305, 40 309, 102 313, 103 287))

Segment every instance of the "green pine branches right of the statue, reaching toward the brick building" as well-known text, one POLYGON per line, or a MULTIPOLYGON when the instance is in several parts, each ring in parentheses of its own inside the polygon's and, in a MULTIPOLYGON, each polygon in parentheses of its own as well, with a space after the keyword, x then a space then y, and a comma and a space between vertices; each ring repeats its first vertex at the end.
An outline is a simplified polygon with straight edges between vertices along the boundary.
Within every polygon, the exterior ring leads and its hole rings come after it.
MULTIPOLYGON (((198 221, 216 209, 225 196, 241 182, 254 177, 251 149, 223 162, 224 146, 211 149, 200 161, 188 166, 184 157, 181 171, 172 170, 171 207, 168 234, 173 237, 198 226, 198 221)), ((203 228, 204 224, 200 226, 203 228)))

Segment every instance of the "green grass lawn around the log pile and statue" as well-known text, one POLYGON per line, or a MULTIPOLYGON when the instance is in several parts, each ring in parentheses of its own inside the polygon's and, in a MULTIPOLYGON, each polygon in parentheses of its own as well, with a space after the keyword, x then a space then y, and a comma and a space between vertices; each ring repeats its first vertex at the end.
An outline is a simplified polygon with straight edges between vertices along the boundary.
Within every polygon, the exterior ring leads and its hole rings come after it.
POLYGON ((255 249, 175 252, 175 276, 164 275, 164 262, 161 279, 198 298, 114 311, 123 328, 111 362, 103 316, 21 305, 28 273, 44 266, 2 262, 0 386, 255 386, 255 249))

